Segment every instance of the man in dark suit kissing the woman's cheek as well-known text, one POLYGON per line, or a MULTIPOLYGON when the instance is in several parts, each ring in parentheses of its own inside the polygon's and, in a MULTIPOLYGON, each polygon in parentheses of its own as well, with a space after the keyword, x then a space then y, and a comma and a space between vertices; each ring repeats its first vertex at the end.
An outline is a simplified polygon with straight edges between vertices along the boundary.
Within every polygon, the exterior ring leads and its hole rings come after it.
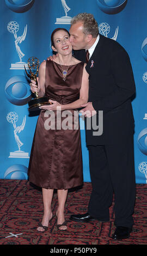
POLYGON ((98 124, 99 111, 103 111, 102 135, 94 136, 94 129, 86 129, 93 187, 88 212, 71 215, 70 219, 77 222, 109 221, 109 206, 114 193, 116 229, 113 239, 126 239, 133 226, 136 183, 131 105, 136 89, 130 58, 118 42, 99 34, 91 14, 78 14, 72 19, 70 41, 77 59, 83 62, 89 59, 86 66, 89 100, 82 106, 82 114, 88 121, 96 113, 98 124))

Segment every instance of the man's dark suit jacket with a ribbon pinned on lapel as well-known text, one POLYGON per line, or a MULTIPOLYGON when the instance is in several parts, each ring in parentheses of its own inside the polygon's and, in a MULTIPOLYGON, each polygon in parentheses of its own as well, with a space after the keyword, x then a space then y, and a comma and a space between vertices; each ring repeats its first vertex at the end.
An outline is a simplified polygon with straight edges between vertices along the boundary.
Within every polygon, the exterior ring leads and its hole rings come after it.
MULTIPOLYGON (((75 51, 75 57, 85 62, 85 50, 75 51)), ((93 129, 86 130, 87 145, 126 141, 134 128, 131 97, 136 91, 127 52, 117 41, 100 35, 86 70, 89 73, 88 101, 97 111, 97 124, 98 112, 103 111, 103 133, 93 136, 93 129)))

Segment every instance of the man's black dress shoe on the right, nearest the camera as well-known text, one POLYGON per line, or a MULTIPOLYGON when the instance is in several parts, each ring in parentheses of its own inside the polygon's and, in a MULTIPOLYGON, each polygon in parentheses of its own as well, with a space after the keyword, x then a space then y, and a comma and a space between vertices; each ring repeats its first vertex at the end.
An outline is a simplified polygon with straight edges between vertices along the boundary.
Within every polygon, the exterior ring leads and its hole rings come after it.
POLYGON ((130 236, 130 233, 132 231, 132 228, 127 228, 127 227, 117 227, 115 229, 115 232, 112 236, 114 240, 122 240, 126 239, 130 236))

